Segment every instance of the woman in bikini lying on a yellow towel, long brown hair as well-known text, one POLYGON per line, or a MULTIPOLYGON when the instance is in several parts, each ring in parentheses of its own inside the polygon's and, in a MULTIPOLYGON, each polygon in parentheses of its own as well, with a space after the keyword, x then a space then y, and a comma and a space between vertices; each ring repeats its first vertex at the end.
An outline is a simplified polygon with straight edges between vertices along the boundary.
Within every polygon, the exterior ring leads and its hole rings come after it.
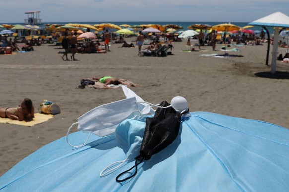
POLYGON ((25 98, 18 107, 0 107, 0 117, 31 121, 34 118, 32 101, 29 98, 25 98))

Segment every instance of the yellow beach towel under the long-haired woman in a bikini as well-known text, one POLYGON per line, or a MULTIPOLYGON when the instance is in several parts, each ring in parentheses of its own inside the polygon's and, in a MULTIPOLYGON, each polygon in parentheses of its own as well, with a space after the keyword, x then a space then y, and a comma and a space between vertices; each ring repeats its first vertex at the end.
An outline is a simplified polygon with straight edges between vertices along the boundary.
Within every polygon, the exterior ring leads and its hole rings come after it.
POLYGON ((54 115, 40 114, 40 113, 35 113, 34 116, 35 117, 33 118, 32 121, 27 121, 27 122, 0 117, 0 123, 9 123, 9 124, 23 125, 23 126, 34 126, 36 124, 40 124, 45 121, 48 121, 49 119, 54 117, 54 115))

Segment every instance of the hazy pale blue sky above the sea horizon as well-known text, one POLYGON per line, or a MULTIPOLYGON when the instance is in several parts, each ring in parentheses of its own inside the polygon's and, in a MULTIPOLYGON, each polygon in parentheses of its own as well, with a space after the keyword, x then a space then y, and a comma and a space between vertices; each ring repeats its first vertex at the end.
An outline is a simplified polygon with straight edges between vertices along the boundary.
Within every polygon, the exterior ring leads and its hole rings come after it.
POLYGON ((277 11, 289 16, 289 0, 0 0, 0 23, 23 23, 28 11, 56 23, 252 22, 277 11))

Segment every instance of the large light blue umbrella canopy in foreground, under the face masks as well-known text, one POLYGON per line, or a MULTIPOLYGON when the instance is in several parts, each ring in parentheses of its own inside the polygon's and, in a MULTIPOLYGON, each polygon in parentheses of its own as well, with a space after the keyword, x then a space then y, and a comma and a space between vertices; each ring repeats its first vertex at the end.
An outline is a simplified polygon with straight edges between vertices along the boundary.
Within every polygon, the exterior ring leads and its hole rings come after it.
MULTIPOLYGON (((173 105, 177 111, 187 107, 184 102, 173 105)), ((135 165, 134 156, 100 177, 99 173, 110 163, 120 163, 127 154, 138 154, 146 119, 150 117, 124 120, 113 135, 91 134, 88 143, 80 148, 68 145, 66 137, 53 141, 6 172, 0 178, 0 190, 283 192, 289 189, 288 129, 210 112, 185 113, 174 141, 137 165, 138 171, 131 171, 136 173, 131 179, 116 182, 119 173, 135 165)), ((86 138, 81 131, 69 134, 73 144, 81 144, 86 138)))

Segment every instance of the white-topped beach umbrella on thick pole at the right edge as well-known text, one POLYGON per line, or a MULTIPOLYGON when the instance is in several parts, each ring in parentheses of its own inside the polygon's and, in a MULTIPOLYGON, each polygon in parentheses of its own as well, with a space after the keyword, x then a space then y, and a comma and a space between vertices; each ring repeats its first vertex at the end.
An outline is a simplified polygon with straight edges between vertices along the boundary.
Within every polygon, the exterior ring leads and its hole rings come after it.
MULTIPOLYGON (((274 40, 273 40, 273 51, 272 51, 272 63, 271 63, 271 73, 275 73, 276 71, 276 60, 277 60, 277 54, 278 54, 278 41, 279 41, 279 27, 289 27, 289 16, 281 13, 281 12, 275 12, 268 16, 262 17, 260 19, 257 19, 249 25, 258 25, 262 26, 266 29, 267 33, 269 34, 266 27, 275 27, 274 29, 274 40)), ((268 37, 269 39, 270 37, 268 37)), ((266 64, 268 63, 268 57, 269 57, 269 49, 270 49, 270 40, 268 41, 268 47, 267 47, 267 57, 266 57, 266 64)))

